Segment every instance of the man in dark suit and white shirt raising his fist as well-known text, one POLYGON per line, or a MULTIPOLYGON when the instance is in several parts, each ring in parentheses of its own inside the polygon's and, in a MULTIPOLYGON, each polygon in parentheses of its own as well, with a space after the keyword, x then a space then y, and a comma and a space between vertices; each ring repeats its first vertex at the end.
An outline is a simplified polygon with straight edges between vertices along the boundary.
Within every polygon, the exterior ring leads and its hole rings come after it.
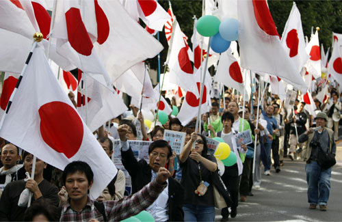
MULTIPOLYGON (((144 159, 137 161, 127 142, 127 131, 127 125, 118 126, 122 164, 131 176, 132 193, 136 193, 155 179, 159 168, 168 163, 172 149, 164 140, 154 141, 148 148, 149 163, 144 159)), ((164 189, 158 199, 146 210, 153 215, 155 221, 183 221, 183 196, 184 189, 181 184, 170 177, 168 188, 164 189)))

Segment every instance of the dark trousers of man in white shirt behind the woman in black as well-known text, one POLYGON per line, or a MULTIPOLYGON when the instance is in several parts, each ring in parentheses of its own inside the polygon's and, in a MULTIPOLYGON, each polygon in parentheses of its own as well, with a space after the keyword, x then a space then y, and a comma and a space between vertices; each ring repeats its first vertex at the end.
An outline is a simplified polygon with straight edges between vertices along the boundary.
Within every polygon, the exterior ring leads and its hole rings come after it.
MULTIPOLYGON (((229 193, 231 193, 231 199, 233 201, 231 208, 237 208, 237 204, 239 203, 239 170, 237 169, 237 163, 231 167, 224 167, 224 174, 221 178, 229 193)), ((222 217, 226 217, 228 214, 228 208, 222 208, 222 217)))

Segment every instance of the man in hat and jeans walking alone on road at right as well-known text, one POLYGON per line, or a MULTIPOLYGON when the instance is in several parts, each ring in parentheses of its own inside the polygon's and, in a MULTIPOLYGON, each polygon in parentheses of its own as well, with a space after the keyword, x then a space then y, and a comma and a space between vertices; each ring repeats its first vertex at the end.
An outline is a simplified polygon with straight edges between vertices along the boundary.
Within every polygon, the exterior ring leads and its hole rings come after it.
POLYGON ((317 158, 321 152, 336 154, 334 133, 326 128, 328 117, 326 113, 317 113, 315 117, 317 128, 309 128, 298 138, 299 143, 306 141, 306 148, 302 152, 306 161, 306 181, 308 183, 309 208, 314 210, 319 204, 319 210, 326 211, 326 205, 330 193, 330 177, 332 167, 324 168, 319 165, 317 158))

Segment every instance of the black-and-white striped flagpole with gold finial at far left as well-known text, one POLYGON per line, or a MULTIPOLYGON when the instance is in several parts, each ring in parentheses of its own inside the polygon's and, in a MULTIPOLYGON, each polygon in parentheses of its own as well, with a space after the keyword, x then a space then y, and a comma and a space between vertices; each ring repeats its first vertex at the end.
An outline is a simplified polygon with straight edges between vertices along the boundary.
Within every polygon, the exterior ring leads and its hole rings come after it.
POLYGON ((29 56, 27 56, 27 59, 25 61, 24 67, 23 67, 23 70, 21 70, 21 74, 20 74, 20 76, 18 78, 18 81, 16 82, 16 87, 14 88, 14 90, 13 90, 11 96, 10 96, 10 100, 8 101, 8 105, 6 107, 6 111, 5 111, 5 113, 4 113, 4 115, 3 115, 2 119, 1 119, 1 122, 0 122, 0 128, 3 125, 3 121, 5 120, 6 114, 10 110, 10 107, 12 105, 12 100, 13 100, 15 94, 16 94, 16 91, 18 90, 18 87, 19 87, 19 85, 21 83, 21 80, 23 79, 23 74, 24 74, 24 72, 27 69, 27 65, 29 64, 29 60, 31 59, 32 53, 34 53, 34 49, 36 48, 38 42, 41 42, 42 40, 43 40, 42 33, 39 33, 39 32, 34 33, 34 44, 32 44, 31 51, 29 51, 29 56))

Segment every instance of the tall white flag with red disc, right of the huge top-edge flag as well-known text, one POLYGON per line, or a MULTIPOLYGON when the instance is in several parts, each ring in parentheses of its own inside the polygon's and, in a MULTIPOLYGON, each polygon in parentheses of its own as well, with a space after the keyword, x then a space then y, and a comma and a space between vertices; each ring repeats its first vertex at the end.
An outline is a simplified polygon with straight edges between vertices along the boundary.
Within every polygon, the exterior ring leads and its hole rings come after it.
POLYGON ((305 51, 300 12, 294 1, 284 32, 282 33, 281 44, 284 46, 285 51, 287 51, 287 55, 289 55, 291 61, 295 64, 298 72, 300 72, 308 60, 308 54, 305 51))

